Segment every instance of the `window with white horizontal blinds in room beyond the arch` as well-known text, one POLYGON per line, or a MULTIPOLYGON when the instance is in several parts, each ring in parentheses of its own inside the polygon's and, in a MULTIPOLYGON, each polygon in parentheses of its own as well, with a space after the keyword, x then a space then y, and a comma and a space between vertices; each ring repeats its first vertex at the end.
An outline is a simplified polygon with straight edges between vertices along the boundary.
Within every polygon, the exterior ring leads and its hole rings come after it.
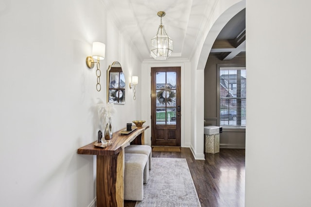
POLYGON ((221 127, 246 126, 246 69, 219 67, 219 113, 221 127))

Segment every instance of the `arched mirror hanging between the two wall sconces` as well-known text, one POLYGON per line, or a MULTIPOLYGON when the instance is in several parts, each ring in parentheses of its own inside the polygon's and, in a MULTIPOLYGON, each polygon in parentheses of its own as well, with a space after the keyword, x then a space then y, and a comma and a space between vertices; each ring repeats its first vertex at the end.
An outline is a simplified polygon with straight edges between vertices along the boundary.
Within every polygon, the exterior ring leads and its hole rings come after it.
POLYGON ((118 61, 107 70, 107 102, 125 104, 125 77, 118 61))

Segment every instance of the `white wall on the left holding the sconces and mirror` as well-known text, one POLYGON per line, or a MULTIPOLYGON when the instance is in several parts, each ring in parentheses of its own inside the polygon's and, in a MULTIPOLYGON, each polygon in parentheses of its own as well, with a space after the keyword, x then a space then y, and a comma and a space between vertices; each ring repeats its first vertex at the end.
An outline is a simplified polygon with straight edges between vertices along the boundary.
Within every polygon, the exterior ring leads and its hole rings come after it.
MULTIPOLYGON (((94 101, 106 100, 106 69, 126 80, 141 60, 106 16, 100 0, 0 2, 0 206, 94 206, 94 156, 77 149, 97 139, 94 101), (88 69, 91 43, 106 44, 102 91, 88 69)), ((126 88, 113 129, 140 116, 140 98, 126 88), (126 118, 124 118, 126 117, 126 118)))

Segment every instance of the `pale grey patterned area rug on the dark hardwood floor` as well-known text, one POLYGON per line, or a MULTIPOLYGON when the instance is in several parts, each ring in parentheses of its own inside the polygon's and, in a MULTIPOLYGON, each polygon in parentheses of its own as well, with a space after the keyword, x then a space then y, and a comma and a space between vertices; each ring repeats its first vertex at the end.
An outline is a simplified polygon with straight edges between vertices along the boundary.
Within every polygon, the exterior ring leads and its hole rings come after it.
POLYGON ((186 159, 152 158, 149 172, 135 207, 201 207, 186 159))

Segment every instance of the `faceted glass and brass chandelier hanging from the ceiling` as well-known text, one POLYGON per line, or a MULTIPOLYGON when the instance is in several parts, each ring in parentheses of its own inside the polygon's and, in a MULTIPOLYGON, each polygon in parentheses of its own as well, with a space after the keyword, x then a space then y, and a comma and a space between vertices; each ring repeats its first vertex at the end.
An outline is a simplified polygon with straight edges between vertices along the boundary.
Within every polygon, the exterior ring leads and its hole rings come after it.
POLYGON ((155 37, 151 39, 151 56, 155 60, 166 60, 173 52, 173 40, 167 35, 162 25, 162 17, 165 16, 165 12, 158 12, 157 16, 161 17, 161 24, 155 37))

